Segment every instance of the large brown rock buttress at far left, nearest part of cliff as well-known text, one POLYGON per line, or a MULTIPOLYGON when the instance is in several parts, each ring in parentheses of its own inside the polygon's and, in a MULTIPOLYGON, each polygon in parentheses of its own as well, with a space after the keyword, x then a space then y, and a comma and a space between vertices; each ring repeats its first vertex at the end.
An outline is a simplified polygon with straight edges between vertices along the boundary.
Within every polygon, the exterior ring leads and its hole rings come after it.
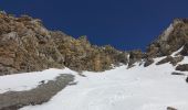
POLYGON ((63 67, 63 56, 38 19, 0 13, 0 75, 63 67))

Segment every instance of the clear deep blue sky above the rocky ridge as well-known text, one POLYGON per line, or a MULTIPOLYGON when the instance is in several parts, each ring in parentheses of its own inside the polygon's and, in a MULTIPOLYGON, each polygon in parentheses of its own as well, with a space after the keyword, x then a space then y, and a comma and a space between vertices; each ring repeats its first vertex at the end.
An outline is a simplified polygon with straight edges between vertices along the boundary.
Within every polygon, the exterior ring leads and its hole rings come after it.
POLYGON ((0 9, 118 50, 145 50, 175 18, 188 18, 188 0, 0 0, 0 9))

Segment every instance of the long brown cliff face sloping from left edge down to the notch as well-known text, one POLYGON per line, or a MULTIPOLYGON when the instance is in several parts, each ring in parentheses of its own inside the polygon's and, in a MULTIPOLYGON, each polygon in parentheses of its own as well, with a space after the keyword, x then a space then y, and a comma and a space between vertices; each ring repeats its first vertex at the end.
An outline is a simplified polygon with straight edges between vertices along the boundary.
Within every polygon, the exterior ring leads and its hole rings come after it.
POLYGON ((91 45, 84 36, 75 40, 49 31, 28 15, 14 18, 0 12, 0 75, 64 66, 100 72, 119 63, 127 63, 127 53, 91 45))

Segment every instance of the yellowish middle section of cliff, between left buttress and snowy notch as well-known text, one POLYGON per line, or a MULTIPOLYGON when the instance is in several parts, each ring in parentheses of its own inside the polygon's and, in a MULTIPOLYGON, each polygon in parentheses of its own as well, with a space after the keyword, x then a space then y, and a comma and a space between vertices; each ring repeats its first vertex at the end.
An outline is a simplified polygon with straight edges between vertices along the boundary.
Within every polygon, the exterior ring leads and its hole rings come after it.
POLYGON ((64 65, 75 70, 105 70, 112 64, 127 64, 127 53, 106 45, 98 47, 91 45, 86 36, 77 40, 66 36, 62 32, 52 32, 51 35, 60 53, 64 56, 64 65))

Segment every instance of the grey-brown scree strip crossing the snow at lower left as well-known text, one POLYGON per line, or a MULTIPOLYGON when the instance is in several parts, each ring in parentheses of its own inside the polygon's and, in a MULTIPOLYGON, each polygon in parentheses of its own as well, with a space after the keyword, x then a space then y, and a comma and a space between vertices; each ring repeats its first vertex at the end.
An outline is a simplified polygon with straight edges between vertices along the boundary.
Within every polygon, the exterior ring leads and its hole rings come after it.
POLYGON ((0 110, 18 110, 29 105, 41 105, 49 101, 60 90, 74 80, 72 75, 61 75, 29 91, 9 91, 0 95, 0 110))

